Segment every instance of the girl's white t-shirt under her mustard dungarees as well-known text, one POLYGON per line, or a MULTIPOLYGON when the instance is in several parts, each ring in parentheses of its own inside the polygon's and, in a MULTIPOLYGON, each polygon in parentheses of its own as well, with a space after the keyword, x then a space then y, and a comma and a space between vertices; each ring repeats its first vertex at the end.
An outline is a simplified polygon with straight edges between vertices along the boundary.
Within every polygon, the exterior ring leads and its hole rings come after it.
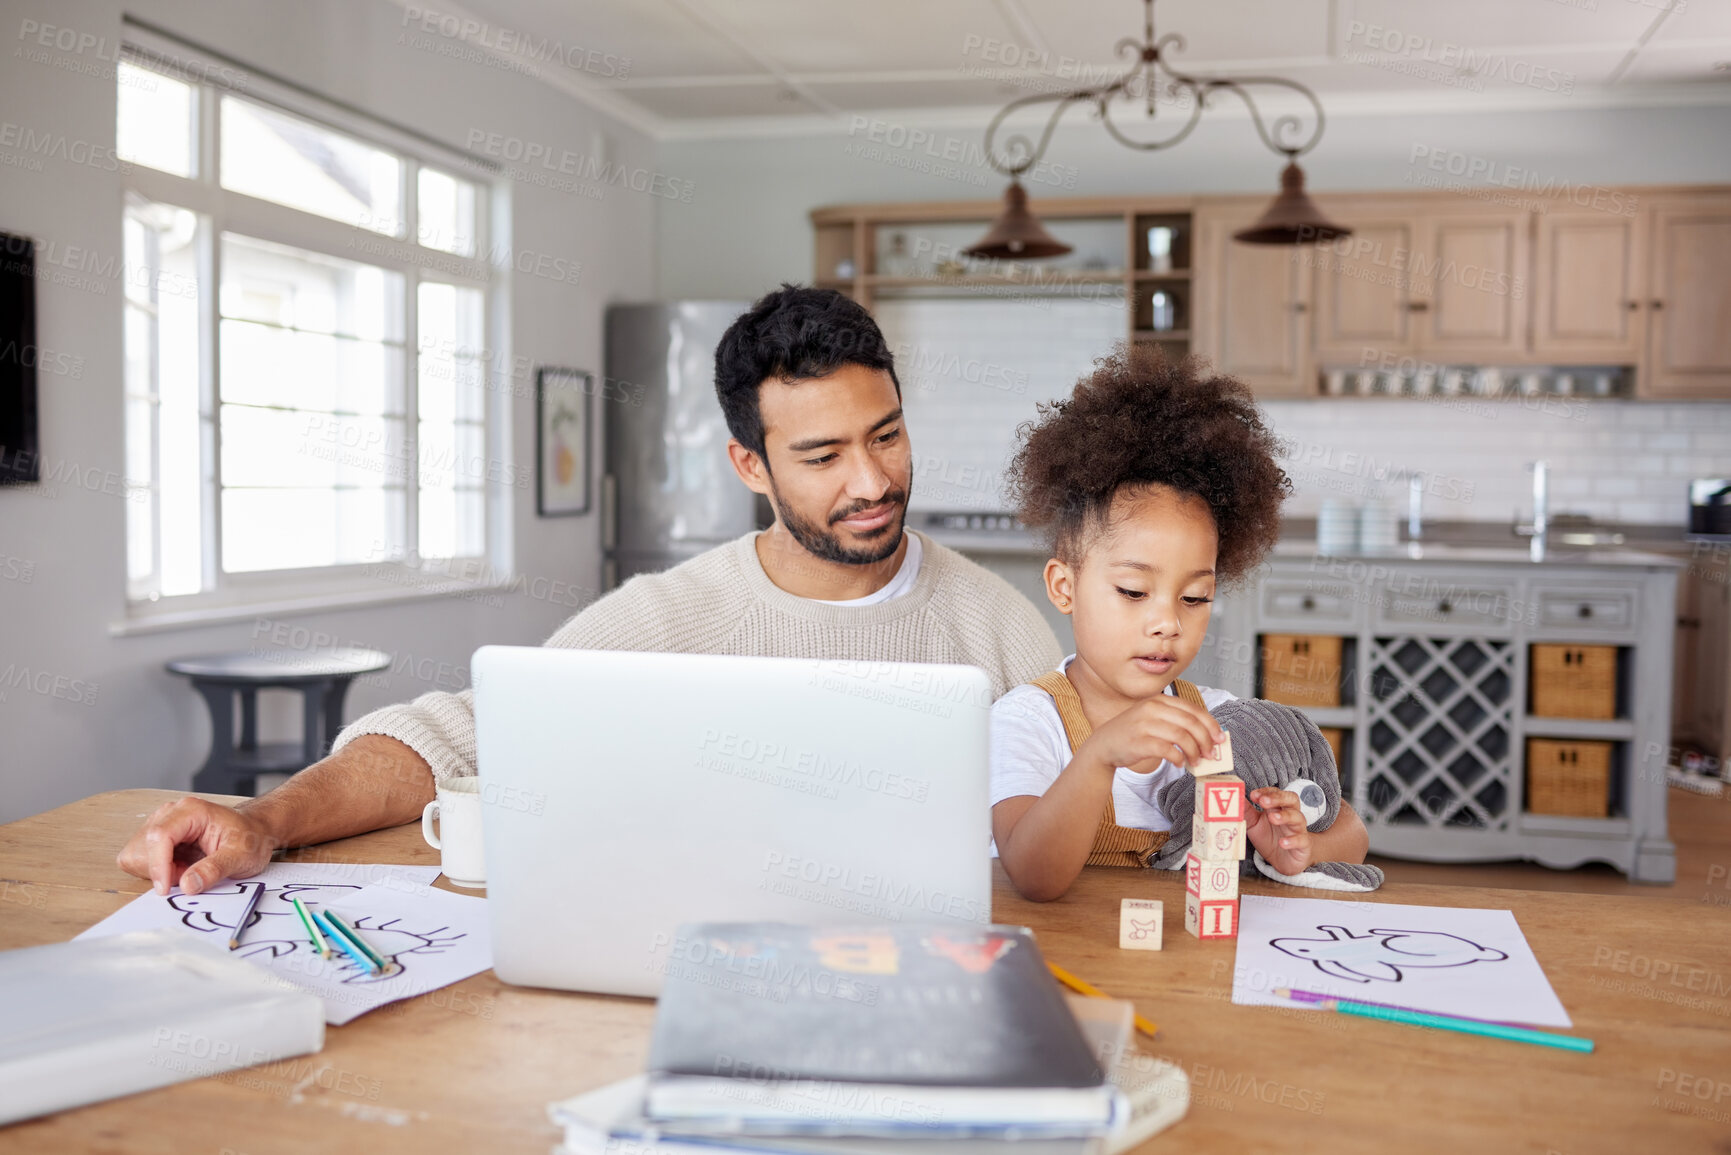
MULTIPOLYGON (((1058 668, 1063 670, 1071 661, 1075 655, 1058 668)), ((1208 712, 1238 696, 1210 686, 1196 689, 1208 712)), ((1174 693, 1170 686, 1167 693, 1174 693)), ((1065 722, 1058 717, 1058 703, 1051 694, 1039 686, 1016 686, 992 705, 992 805, 1018 795, 1044 795, 1066 765, 1070 739, 1065 738, 1065 722)), ((1118 826, 1172 829, 1172 821, 1160 810, 1156 798, 1162 786, 1187 772, 1172 762, 1162 762, 1153 774, 1137 774, 1120 765, 1111 783, 1118 826)))

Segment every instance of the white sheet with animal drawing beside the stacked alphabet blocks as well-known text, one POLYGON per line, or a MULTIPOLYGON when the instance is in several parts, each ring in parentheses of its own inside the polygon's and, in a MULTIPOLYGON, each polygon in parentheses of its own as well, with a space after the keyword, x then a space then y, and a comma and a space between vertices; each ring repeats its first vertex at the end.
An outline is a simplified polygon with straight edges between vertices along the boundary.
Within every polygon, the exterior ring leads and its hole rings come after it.
POLYGON ((1276 989, 1534 1027, 1572 1027, 1511 911, 1245 895, 1232 1003, 1276 989))

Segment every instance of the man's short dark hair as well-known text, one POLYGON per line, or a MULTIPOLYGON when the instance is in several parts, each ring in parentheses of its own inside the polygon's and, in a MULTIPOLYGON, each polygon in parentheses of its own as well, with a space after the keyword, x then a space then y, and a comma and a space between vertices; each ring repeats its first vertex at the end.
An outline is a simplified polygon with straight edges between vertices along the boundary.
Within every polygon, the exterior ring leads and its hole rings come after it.
MULTIPOLYGON (((715 397, 727 431, 763 457, 758 386, 827 377, 841 365, 883 369, 895 381, 895 357, 866 308, 834 289, 782 284, 739 315, 715 348, 715 397)), ((765 462, 767 464, 767 462, 765 462)))

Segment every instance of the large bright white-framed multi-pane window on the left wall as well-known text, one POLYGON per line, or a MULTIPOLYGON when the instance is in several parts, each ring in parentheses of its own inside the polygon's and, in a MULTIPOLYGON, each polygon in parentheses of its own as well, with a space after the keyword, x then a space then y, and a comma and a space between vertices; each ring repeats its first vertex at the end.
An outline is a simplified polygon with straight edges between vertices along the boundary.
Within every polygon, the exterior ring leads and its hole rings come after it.
POLYGON ((152 61, 128 48, 118 85, 130 601, 493 571, 452 568, 486 559, 490 495, 509 509, 490 189, 386 125, 152 61))

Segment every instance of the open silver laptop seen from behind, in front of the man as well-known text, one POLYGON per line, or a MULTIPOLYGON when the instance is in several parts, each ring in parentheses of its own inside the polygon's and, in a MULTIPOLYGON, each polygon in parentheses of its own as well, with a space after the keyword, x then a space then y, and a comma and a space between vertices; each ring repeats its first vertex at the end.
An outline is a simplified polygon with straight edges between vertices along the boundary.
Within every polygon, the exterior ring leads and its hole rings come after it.
POLYGON ((471 670, 504 982, 653 996, 703 951, 682 923, 992 919, 983 670, 545 646, 471 670))

